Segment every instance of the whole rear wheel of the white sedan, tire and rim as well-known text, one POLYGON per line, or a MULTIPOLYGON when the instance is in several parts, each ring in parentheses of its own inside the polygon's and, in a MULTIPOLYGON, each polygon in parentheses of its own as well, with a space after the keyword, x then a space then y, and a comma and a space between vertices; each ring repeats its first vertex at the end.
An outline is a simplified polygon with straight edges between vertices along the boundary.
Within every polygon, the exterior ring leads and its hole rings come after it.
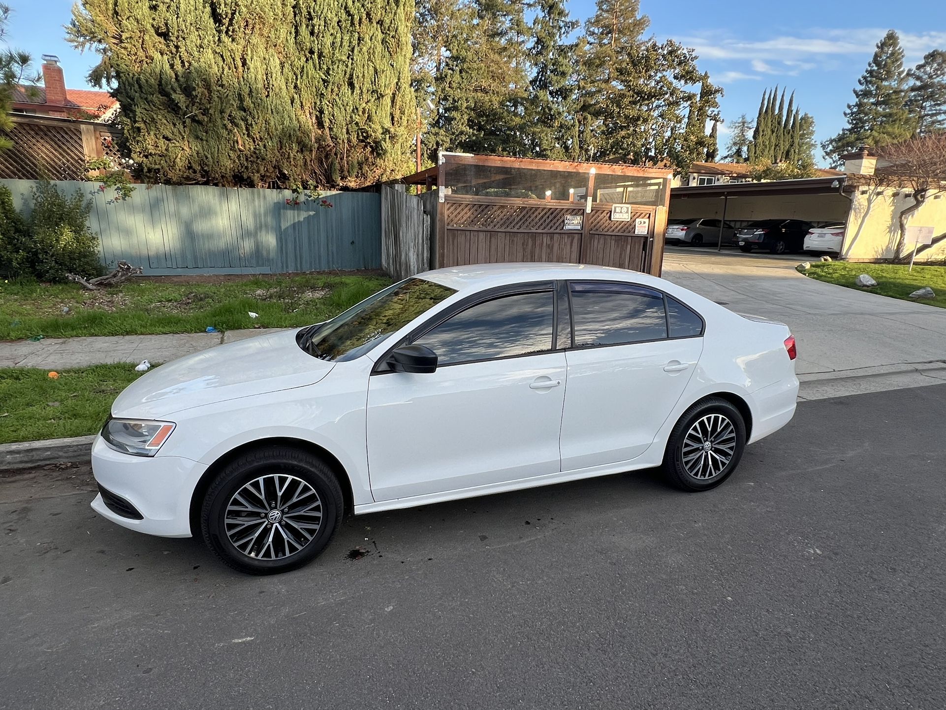
POLYGON ((696 402, 676 422, 667 442, 663 470, 676 488, 696 492, 725 481, 745 449, 745 421, 726 399, 696 402))

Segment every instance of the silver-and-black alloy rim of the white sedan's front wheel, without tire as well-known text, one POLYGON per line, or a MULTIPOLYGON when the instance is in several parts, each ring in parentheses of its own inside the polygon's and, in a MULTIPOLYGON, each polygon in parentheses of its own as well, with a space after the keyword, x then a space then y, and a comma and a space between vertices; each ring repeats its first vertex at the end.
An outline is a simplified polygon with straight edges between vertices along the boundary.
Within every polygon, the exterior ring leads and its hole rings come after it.
POLYGON ((285 559, 300 552, 322 526, 322 499, 306 481, 272 473, 243 485, 224 514, 230 542, 247 557, 285 559))

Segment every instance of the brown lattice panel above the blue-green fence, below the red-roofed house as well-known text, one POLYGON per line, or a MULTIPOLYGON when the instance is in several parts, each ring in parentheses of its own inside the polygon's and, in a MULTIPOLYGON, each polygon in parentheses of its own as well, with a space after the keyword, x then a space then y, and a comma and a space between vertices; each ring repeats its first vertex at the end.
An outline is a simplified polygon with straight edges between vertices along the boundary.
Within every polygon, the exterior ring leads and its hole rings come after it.
POLYGON ((0 178, 82 180, 85 153, 79 126, 15 122, 12 148, 0 152, 0 178))

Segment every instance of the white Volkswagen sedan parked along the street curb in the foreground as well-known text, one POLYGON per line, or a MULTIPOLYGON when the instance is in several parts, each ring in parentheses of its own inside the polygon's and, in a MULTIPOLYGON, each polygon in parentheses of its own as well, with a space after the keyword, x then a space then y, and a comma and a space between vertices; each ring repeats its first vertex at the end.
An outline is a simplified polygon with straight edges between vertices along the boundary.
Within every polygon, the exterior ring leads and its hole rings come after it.
POLYGON ((795 339, 663 279, 442 269, 162 365, 112 407, 92 506, 271 574, 372 513, 662 466, 721 484, 795 413, 795 339))

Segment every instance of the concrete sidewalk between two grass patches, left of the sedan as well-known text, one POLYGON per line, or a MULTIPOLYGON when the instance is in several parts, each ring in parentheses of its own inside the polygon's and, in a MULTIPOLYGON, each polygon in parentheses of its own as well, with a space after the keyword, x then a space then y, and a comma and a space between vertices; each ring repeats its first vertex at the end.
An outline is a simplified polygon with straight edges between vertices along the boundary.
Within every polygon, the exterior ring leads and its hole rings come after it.
POLYGON ((208 347, 284 328, 227 330, 223 333, 115 335, 98 338, 46 338, 41 341, 0 342, 0 367, 40 367, 61 370, 105 363, 167 363, 208 347))

